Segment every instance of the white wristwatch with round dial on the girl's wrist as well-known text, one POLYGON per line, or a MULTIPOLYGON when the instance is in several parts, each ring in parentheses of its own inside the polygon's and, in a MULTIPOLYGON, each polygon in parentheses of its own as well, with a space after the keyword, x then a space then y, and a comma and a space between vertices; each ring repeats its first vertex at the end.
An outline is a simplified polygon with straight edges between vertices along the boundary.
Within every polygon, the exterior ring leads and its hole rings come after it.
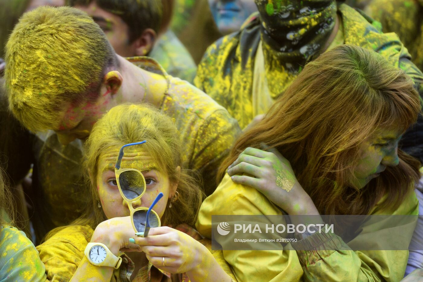
POLYGON ((110 266, 118 269, 122 263, 122 258, 116 257, 110 252, 109 248, 102 243, 88 243, 85 247, 84 254, 93 265, 110 266))

